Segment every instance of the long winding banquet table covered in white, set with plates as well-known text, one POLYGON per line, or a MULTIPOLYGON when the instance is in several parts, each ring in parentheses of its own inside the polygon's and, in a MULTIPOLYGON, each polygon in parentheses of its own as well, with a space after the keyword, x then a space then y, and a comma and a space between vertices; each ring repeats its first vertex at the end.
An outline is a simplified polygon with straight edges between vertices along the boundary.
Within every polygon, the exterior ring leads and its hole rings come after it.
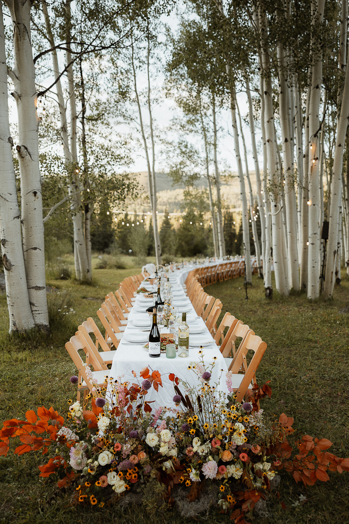
MULTIPOLYGON (((217 264, 217 263, 216 263, 217 264)), ((211 265, 211 264, 210 264, 211 265)), ((142 368, 149 367, 149 369, 157 370, 161 374, 163 387, 159 388, 156 392, 151 388, 147 395, 147 401, 154 402, 151 404, 152 409, 157 409, 160 406, 174 407, 173 396, 175 391, 173 383, 168 379, 168 374, 174 373, 178 378, 185 380, 190 386, 194 386, 198 382, 198 377, 193 370, 188 369, 190 363, 199 362, 200 355, 200 344, 204 343, 202 354, 204 358, 205 366, 211 370, 211 364, 214 362, 215 366, 212 369, 212 376, 210 383, 215 384, 219 378, 219 390, 227 392, 226 389, 226 373, 228 371, 227 365, 224 362, 224 358, 221 355, 215 340, 212 338, 208 329, 206 328, 204 320, 198 317, 193 304, 186 296, 183 288, 183 282, 188 275, 188 272, 197 266, 186 266, 181 270, 176 270, 172 274, 170 273, 169 278, 174 294, 173 305, 179 308, 179 311, 187 311, 189 332, 190 328, 192 331, 203 330, 200 334, 189 334, 189 356, 187 358, 178 357, 167 358, 165 353, 162 353, 159 358, 152 358, 148 354, 143 346, 148 342, 151 318, 148 313, 145 312, 149 303, 144 299, 142 293, 139 293, 134 301, 134 305, 128 316, 128 323, 123 333, 123 337, 118 345, 115 357, 112 361, 110 376, 114 379, 121 381, 130 381, 134 383, 136 379, 132 372, 136 372, 137 377, 141 383, 143 380, 140 378, 140 372, 142 368), (183 280, 184 277, 184 280, 183 280), (134 324, 145 324, 147 326, 136 326, 134 324), (142 339, 142 342, 140 342, 142 339), (137 342, 132 342, 137 340, 137 342), (193 342, 193 346, 191 345, 193 342)), ((149 282, 143 282, 142 286, 147 287, 149 290, 153 290, 149 285, 149 282)), ((166 330, 168 331, 168 330, 166 330)))

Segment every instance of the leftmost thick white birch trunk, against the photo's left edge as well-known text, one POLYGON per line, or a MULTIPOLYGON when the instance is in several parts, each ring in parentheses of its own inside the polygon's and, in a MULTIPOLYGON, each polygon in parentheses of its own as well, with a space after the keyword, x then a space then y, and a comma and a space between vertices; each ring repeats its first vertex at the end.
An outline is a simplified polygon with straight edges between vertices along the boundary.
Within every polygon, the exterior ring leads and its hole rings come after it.
POLYGON ((35 322, 29 304, 12 146, 8 120, 5 31, 0 4, 0 237, 9 333, 24 333, 32 329, 35 322))

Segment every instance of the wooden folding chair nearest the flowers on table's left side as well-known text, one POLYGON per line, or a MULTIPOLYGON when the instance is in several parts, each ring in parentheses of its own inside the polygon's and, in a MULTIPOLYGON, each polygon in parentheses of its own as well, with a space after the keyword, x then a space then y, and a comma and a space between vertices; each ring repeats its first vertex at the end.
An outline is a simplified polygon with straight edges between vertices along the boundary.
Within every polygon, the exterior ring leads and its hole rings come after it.
POLYGON ((81 392, 83 392, 83 409, 86 404, 87 391, 94 391, 95 387, 103 387, 105 385, 105 378, 109 376, 109 369, 107 366, 100 366, 97 359, 89 351, 86 346, 86 342, 83 340, 81 335, 74 335, 70 341, 65 344, 66 351, 70 354, 72 361, 74 362, 77 373, 78 373, 78 386, 77 386, 77 400, 80 402, 81 392), (96 379, 97 385, 94 385, 89 379, 86 373, 85 363, 79 354, 79 350, 85 351, 86 354, 86 365, 89 363, 93 364, 94 370, 91 371, 93 378, 96 379))

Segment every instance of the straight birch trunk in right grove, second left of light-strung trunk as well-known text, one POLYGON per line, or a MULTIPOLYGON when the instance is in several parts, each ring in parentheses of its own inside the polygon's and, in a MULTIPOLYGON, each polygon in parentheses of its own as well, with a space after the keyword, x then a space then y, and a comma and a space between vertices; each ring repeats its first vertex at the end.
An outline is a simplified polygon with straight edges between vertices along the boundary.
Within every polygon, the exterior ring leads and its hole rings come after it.
POLYGON ((292 136, 290 114, 287 108, 289 88, 284 77, 286 68, 285 51, 281 44, 277 48, 279 61, 279 115, 283 137, 284 180, 285 180, 285 218, 287 229, 288 286, 299 291, 299 265, 297 246, 297 208, 295 200, 294 165, 292 159, 292 136))

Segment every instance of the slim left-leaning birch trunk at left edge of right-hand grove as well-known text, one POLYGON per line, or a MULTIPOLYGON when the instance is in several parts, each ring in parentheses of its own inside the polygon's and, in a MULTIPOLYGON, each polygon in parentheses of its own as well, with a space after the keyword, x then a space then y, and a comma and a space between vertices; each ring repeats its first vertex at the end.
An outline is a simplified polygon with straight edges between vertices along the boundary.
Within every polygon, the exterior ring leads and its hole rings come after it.
POLYGON ((242 205, 242 216, 241 216, 242 238, 243 238, 244 254, 245 254, 246 282, 249 284, 252 284, 249 211, 247 207, 245 182, 244 182, 244 176, 243 176, 243 171, 242 171, 242 162, 241 162, 241 156, 240 156, 239 132, 238 132, 237 115, 236 115, 235 85, 233 84, 233 81, 231 81, 231 84, 232 84, 232 89, 231 89, 230 108, 231 108, 231 120, 232 120, 232 127, 233 127, 235 158, 237 159, 238 177, 240 181, 240 196, 241 196, 241 205, 242 205))

